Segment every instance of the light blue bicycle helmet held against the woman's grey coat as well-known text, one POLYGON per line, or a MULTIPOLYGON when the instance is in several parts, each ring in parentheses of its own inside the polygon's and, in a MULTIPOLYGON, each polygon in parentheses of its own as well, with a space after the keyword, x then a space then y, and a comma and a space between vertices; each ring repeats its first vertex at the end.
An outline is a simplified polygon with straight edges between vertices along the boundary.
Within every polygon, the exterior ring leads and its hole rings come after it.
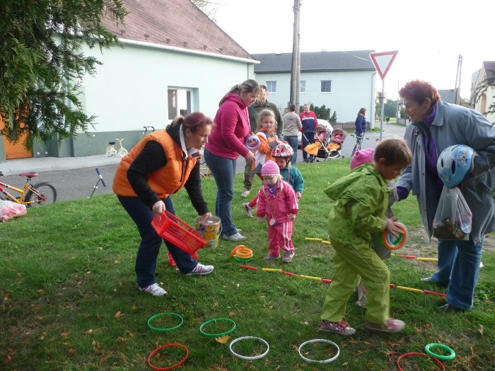
POLYGON ((465 175, 474 167, 474 150, 471 147, 457 144, 445 148, 438 156, 436 170, 447 188, 457 187, 465 175))

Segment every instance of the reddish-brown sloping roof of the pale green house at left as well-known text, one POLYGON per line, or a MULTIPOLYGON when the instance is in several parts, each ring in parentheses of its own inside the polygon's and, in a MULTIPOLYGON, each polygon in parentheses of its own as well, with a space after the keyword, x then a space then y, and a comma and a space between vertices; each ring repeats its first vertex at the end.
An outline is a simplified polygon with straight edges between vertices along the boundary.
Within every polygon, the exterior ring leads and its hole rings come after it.
POLYGON ((120 39, 252 59, 190 0, 123 0, 129 14, 124 24, 104 20, 120 39))

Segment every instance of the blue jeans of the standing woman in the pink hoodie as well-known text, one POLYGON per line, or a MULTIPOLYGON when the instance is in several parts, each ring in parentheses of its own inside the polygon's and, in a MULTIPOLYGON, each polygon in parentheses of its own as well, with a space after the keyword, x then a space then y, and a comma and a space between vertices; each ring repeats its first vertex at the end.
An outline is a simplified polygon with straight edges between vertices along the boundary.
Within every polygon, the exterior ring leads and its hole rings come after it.
POLYGON ((234 235, 237 228, 232 221, 232 200, 234 198, 235 160, 223 158, 206 149, 204 160, 210 168, 217 187, 215 215, 221 219, 224 235, 234 235))

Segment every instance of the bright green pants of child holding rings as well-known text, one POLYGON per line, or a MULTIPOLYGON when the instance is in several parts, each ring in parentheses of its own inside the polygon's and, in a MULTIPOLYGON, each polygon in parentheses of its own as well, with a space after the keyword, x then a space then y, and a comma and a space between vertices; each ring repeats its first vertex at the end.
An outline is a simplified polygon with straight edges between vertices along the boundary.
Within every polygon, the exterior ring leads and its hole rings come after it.
POLYGON ((342 245, 332 241, 335 271, 332 284, 323 303, 321 319, 340 322, 346 312, 347 301, 363 279, 368 288, 365 319, 368 322, 382 324, 388 319, 390 307, 390 271, 371 245, 342 245))

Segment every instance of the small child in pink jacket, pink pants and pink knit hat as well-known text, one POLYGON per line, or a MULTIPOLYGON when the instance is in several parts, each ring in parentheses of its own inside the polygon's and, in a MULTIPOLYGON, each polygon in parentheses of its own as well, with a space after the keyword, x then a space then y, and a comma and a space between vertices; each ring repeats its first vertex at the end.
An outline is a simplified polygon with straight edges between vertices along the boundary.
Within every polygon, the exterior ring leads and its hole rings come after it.
POLYGON ((291 185, 280 175, 280 169, 272 160, 264 163, 261 174, 263 185, 258 192, 258 223, 263 217, 268 222, 268 256, 264 261, 280 257, 280 249, 284 251, 283 263, 289 263, 294 256, 292 243, 292 223, 298 213, 298 199, 291 185))

